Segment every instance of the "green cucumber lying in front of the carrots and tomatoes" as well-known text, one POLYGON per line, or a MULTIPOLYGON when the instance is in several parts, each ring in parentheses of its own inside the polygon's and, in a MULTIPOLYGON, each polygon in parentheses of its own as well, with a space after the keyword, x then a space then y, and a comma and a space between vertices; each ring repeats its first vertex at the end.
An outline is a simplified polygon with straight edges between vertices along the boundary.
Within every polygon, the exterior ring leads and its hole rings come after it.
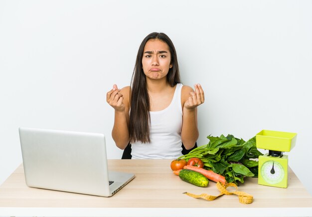
POLYGON ((182 169, 179 172, 179 177, 181 180, 199 187, 207 187, 209 183, 204 175, 192 170, 182 169))

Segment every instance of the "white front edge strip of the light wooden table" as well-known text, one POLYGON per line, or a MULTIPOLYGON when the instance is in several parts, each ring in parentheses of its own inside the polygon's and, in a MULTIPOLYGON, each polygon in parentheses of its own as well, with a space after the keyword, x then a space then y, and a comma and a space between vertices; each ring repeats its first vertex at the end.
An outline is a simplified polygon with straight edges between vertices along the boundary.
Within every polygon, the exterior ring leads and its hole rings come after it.
POLYGON ((0 216, 45 217, 304 217, 312 208, 0 208, 0 216))

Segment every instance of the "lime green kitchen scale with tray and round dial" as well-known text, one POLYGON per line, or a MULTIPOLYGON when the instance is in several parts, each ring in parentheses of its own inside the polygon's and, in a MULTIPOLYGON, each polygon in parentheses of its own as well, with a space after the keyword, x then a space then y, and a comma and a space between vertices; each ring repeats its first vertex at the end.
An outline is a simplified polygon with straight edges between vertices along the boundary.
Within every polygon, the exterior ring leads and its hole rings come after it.
POLYGON ((269 153, 259 156, 258 184, 287 188, 288 155, 296 144, 297 133, 262 130, 256 134, 256 145, 269 153))

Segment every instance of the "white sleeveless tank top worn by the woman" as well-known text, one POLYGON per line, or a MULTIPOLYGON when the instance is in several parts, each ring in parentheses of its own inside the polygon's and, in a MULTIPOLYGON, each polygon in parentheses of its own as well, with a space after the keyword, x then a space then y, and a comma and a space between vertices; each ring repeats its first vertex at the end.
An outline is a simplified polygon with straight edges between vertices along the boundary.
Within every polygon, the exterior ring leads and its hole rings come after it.
POLYGON ((182 155, 182 86, 176 84, 172 101, 167 108, 150 111, 151 143, 132 143, 132 159, 176 159, 182 155))

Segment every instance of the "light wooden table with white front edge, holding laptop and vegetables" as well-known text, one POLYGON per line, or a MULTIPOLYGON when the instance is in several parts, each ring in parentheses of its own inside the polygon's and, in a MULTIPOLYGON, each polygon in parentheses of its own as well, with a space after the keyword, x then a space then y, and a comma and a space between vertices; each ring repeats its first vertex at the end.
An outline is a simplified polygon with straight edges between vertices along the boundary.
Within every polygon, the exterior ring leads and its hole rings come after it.
POLYGON ((205 201, 182 194, 220 192, 214 182, 206 188, 183 182, 169 165, 169 160, 109 160, 110 170, 136 174, 110 198, 28 188, 20 165, 0 186, 0 216, 312 216, 312 196, 291 169, 287 189, 247 178, 238 190, 252 195, 254 202, 244 205, 236 195, 205 201))

